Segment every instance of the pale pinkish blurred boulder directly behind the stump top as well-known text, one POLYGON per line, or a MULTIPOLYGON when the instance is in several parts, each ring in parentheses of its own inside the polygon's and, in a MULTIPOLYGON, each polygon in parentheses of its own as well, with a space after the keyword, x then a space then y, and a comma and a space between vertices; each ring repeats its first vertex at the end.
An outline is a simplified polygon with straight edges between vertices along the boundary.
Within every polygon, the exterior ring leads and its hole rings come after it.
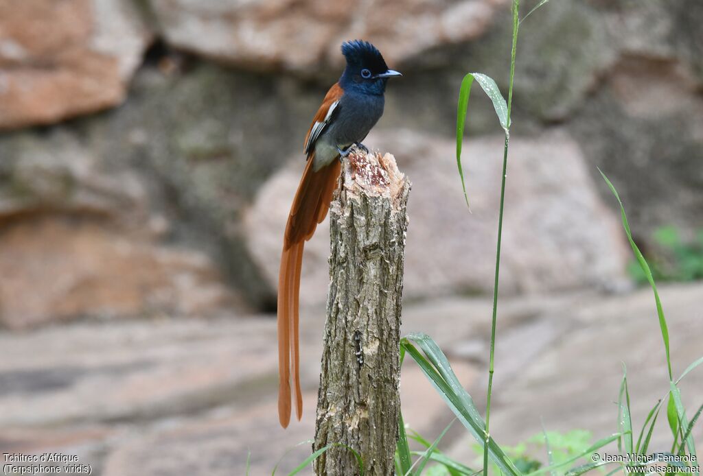
MULTIPOLYGON (((470 139, 463 154, 472 213, 461 194, 455 145, 414 131, 373 132, 413 183, 404 295, 488 293, 494 282, 503 138, 470 139)), ((508 293, 617 288, 629 258, 619 221, 598 196, 579 146, 563 131, 512 138, 501 286, 508 293)), ((245 216, 247 241, 274 285, 283 227, 302 160, 264 184, 245 216)), ((305 248, 301 302, 325 300, 325 221, 305 248)))

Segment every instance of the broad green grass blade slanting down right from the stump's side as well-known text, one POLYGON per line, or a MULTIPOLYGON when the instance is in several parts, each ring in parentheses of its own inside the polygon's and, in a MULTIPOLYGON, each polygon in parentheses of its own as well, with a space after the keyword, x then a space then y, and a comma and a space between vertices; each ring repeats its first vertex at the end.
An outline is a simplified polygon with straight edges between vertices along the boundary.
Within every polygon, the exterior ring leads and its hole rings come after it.
POLYGON ((439 392, 439 395, 449 405, 449 408, 457 416, 459 421, 471 432, 476 441, 479 442, 482 447, 487 445, 489 456, 491 456, 494 463, 498 465, 498 468, 500 468, 505 475, 520 475, 520 470, 515 468, 515 465, 510 461, 510 458, 508 458, 495 440, 491 437, 486 438, 484 421, 480 418, 478 410, 466 390, 464 390, 461 385, 458 385, 458 379, 453 371, 451 371, 449 361, 446 360, 446 356, 439 350, 439 347, 434 344, 434 341, 424 334, 413 334, 413 336, 403 338, 401 340, 401 345, 406 348, 408 355, 413 357, 413 360, 417 362, 432 386, 439 392), (411 339, 423 348, 423 352, 430 350, 430 354, 428 354, 427 357, 432 359, 433 362, 437 362, 437 367, 415 348, 413 343, 411 343, 411 339), (440 372, 449 377, 449 382, 440 372))

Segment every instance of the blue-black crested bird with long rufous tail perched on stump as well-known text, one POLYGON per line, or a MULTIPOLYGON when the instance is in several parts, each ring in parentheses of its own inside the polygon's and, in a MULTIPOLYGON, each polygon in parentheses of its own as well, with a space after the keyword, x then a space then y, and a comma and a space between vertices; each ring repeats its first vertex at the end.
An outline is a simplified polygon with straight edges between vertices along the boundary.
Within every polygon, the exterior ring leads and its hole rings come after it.
POLYGON ((278 418, 283 428, 290 422, 291 364, 298 420, 302 416, 298 294, 304 243, 327 215, 342 158, 352 145, 366 150, 361 141, 383 114, 388 78, 401 76, 388 69, 380 51, 368 41, 347 41, 342 54, 347 67, 325 95, 305 137, 307 164, 285 225, 278 274, 278 418))

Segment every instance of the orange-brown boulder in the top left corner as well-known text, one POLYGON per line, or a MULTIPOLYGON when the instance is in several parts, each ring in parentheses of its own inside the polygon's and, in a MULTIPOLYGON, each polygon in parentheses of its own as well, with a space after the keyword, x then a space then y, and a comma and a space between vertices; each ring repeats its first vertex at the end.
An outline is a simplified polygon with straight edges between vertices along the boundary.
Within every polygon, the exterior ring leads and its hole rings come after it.
POLYGON ((0 129, 114 106, 151 34, 122 0, 0 0, 0 129))

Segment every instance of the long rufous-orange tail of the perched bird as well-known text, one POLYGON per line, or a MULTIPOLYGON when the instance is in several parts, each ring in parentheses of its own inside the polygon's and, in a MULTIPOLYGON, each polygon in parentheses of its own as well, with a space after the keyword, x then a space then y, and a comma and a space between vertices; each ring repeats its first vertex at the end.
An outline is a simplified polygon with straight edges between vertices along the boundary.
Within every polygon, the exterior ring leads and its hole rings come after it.
POLYGON ((303 412, 299 378, 298 297, 303 246, 327 216, 340 176, 340 161, 313 170, 314 154, 308 158, 285 225, 283 253, 278 272, 278 418, 283 428, 290 422, 290 373, 295 385, 298 420, 303 412))

